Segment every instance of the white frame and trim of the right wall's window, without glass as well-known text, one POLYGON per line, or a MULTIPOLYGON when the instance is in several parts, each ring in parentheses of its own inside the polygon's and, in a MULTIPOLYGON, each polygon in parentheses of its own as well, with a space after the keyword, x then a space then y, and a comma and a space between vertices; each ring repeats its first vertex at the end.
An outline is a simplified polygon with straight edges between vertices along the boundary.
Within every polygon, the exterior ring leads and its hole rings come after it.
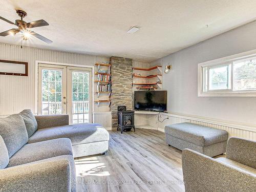
POLYGON ((198 63, 198 97, 256 97, 255 90, 238 90, 233 91, 233 63, 241 60, 256 59, 256 50, 251 50, 227 57, 222 57, 215 60, 198 63), (207 77, 204 75, 205 67, 214 68, 219 66, 231 66, 230 73, 230 89, 222 90, 205 90, 205 82, 207 80, 207 86, 209 86, 209 69, 207 71, 207 77), (206 78, 206 79, 205 79, 206 78))

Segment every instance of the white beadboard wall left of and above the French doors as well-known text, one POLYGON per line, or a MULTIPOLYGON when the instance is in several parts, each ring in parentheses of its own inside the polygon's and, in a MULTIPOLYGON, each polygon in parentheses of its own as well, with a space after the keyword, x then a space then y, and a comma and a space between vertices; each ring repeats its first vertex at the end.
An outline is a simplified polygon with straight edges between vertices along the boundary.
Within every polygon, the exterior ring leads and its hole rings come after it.
POLYGON ((0 43, 0 59, 28 62, 28 77, 0 75, 0 115, 10 115, 31 109, 35 111, 35 61, 94 66, 109 62, 109 57, 78 54, 0 43))

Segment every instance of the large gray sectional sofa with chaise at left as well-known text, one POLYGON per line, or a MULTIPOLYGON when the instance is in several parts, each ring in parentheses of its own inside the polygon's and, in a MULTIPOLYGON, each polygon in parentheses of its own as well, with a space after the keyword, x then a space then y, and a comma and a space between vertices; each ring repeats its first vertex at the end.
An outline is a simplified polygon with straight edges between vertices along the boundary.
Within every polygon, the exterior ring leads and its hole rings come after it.
POLYGON ((76 191, 74 156, 104 153, 109 133, 68 119, 30 110, 0 119, 0 191, 76 191))

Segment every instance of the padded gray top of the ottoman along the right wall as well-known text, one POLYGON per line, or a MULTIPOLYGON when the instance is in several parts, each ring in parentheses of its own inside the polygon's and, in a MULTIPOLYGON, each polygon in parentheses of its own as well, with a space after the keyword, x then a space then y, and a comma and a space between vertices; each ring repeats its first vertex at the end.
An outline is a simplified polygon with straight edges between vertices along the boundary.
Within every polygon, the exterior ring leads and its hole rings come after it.
POLYGON ((202 126, 193 123, 177 123, 166 125, 165 134, 194 143, 199 146, 208 146, 211 144, 226 141, 228 133, 224 130, 202 126))

